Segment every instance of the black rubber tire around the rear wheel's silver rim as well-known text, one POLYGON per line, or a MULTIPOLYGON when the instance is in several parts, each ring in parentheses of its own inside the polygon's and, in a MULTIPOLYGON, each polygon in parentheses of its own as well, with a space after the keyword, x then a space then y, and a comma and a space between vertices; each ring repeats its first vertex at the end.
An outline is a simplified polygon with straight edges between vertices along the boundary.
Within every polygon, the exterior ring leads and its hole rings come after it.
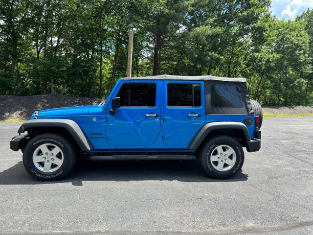
MULTIPOLYGON (((245 154, 242 146, 235 139, 229 136, 217 136, 209 139, 201 146, 198 158, 200 160, 202 168, 209 176, 215 179, 229 179, 241 170, 245 161, 245 154), (236 153, 235 164, 230 169, 225 171, 217 170, 210 161, 211 153, 215 150, 216 147, 220 145, 228 145, 233 148, 236 153)), ((230 166, 226 164, 226 167, 230 166)))

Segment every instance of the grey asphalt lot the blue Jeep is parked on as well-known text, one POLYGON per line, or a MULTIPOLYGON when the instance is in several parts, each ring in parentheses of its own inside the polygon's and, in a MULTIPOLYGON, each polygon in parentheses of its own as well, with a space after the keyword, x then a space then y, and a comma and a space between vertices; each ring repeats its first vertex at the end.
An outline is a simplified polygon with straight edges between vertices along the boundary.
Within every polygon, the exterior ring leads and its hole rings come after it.
POLYGON ((0 234, 313 234, 313 117, 266 118, 230 180, 196 161, 87 162, 40 182, 0 123, 0 234))

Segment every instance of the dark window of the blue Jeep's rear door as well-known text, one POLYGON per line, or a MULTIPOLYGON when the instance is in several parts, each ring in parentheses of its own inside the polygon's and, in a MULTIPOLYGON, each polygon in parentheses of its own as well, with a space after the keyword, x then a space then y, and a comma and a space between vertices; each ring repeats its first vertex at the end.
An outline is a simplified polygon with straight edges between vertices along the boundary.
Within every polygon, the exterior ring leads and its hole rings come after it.
POLYGON ((200 107, 201 85, 189 83, 167 84, 168 107, 200 107))

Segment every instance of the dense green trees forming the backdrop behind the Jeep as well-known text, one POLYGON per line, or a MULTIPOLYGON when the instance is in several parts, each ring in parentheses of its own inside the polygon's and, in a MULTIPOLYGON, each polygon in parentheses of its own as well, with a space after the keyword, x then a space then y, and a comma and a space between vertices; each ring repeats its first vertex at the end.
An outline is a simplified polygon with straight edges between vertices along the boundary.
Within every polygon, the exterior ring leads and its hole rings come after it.
POLYGON ((313 10, 270 0, 0 0, 0 94, 105 97, 126 76, 246 77, 264 105, 313 104, 313 10))

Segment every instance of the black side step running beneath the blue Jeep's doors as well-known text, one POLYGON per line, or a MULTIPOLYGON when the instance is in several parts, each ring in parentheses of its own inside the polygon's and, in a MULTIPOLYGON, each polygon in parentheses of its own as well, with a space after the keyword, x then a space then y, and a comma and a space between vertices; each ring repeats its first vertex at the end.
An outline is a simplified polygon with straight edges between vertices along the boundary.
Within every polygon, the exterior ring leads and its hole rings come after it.
POLYGON ((183 154, 112 154, 112 155, 94 155, 89 156, 92 161, 106 161, 106 160, 194 160, 195 155, 183 154))

